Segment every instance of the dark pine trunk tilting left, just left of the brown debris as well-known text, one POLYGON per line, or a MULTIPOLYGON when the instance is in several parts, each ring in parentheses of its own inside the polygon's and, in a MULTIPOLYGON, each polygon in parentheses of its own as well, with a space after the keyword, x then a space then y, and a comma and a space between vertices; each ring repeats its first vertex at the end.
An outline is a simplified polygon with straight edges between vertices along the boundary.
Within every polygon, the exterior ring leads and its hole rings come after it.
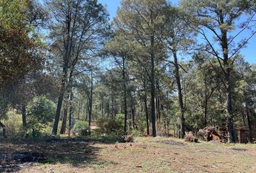
POLYGON ((176 50, 173 50, 174 54, 174 66, 175 66, 175 78, 176 84, 178 87, 178 94, 179 94, 179 110, 180 110, 180 135, 179 138, 184 138, 185 136, 185 117, 184 117, 184 105, 183 105, 183 98, 182 98, 182 85, 179 76, 179 64, 177 59, 176 50))

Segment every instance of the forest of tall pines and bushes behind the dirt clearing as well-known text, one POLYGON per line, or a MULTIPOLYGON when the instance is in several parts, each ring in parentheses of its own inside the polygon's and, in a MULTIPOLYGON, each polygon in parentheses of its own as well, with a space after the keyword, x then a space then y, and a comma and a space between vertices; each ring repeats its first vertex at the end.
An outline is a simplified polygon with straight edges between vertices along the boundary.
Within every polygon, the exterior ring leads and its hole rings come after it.
POLYGON ((0 141, 255 143, 255 26, 250 0, 121 0, 114 19, 97 0, 1 0, 0 141))

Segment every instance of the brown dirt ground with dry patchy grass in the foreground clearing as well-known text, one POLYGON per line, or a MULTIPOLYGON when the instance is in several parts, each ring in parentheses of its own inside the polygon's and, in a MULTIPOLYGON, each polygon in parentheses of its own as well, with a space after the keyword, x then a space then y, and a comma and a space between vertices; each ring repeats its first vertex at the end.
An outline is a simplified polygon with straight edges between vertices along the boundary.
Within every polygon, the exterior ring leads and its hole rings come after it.
MULTIPOLYGON (((0 154, 38 152, 43 161, 0 172, 256 172, 255 144, 186 143, 176 138, 0 142, 0 154)), ((0 169, 1 169, 0 167, 0 169)))

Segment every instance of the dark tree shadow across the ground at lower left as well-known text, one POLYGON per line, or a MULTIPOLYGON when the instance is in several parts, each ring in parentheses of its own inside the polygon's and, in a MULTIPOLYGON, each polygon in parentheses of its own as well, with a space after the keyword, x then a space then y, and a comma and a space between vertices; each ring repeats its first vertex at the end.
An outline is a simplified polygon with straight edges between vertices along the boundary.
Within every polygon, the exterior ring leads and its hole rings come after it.
MULTIPOLYGON (((98 159, 95 143, 116 143, 120 138, 44 138, 0 141, 0 172, 17 172, 34 163, 72 164, 73 167, 108 164, 98 159)), ((114 163, 111 163, 114 164, 114 163)))

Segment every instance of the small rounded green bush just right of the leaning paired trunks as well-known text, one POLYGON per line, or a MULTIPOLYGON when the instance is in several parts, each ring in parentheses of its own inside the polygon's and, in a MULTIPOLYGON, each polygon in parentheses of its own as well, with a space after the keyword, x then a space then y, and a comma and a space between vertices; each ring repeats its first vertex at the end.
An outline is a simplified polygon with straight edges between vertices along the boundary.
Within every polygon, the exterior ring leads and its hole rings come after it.
POLYGON ((90 136, 90 128, 86 121, 79 120, 74 123, 73 133, 78 136, 90 136))

